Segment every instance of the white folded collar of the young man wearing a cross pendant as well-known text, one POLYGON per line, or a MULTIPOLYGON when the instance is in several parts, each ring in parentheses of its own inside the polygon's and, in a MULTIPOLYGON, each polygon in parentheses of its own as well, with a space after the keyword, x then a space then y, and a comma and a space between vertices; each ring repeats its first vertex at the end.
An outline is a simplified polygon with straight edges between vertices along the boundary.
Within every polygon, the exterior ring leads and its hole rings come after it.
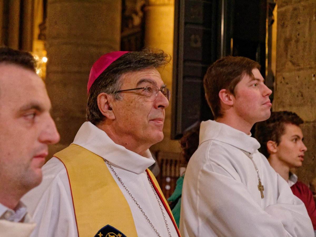
POLYGON ((250 154, 253 154, 260 147, 260 143, 255 138, 231 126, 213 120, 201 122, 199 140, 200 144, 207 140, 218 140, 250 154))

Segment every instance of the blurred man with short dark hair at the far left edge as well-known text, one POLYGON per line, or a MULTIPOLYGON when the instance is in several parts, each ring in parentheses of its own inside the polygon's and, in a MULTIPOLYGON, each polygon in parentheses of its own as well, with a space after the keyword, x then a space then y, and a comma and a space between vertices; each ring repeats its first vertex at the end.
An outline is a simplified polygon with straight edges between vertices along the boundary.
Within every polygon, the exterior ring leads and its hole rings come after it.
POLYGON ((21 197, 39 185, 48 145, 59 141, 51 102, 28 52, 0 48, 0 236, 36 226, 21 197))

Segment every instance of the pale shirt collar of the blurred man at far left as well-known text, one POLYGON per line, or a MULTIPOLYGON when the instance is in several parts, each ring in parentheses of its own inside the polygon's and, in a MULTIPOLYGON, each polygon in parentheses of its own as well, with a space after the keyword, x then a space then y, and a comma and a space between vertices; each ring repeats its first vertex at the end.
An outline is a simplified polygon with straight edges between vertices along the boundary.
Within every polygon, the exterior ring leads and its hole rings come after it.
POLYGON ((26 212, 26 206, 22 202, 19 202, 15 210, 12 210, 0 203, 0 220, 20 222, 26 215, 26 212))

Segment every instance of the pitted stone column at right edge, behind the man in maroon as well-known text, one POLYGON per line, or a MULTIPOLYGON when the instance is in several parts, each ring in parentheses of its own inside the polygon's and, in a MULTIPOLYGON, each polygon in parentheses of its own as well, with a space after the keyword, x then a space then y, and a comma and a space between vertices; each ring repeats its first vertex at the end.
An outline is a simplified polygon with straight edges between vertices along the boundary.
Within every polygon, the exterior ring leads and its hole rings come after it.
POLYGON ((296 173, 307 185, 316 177, 316 1, 277 1, 276 81, 273 111, 303 120, 308 148, 296 173))

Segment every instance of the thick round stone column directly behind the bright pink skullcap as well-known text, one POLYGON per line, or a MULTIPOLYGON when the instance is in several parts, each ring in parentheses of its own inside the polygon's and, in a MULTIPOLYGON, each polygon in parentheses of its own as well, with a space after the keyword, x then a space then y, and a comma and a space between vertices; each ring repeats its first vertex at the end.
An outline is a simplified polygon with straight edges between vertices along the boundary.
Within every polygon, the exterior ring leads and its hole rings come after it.
POLYGON ((94 61, 119 50, 121 0, 48 0, 47 91, 60 142, 49 158, 68 146, 86 120, 87 82, 94 61))

